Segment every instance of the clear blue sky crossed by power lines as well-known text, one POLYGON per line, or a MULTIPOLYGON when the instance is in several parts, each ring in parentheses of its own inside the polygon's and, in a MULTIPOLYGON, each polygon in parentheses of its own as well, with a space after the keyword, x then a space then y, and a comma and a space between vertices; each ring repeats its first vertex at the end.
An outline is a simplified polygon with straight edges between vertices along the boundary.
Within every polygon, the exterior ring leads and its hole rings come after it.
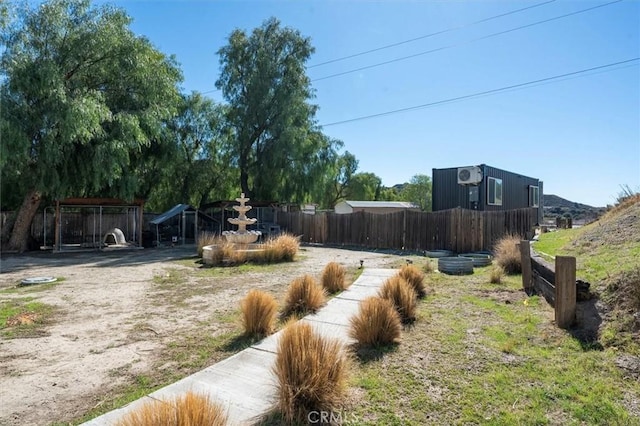
POLYGON ((318 124, 385 186, 488 164, 593 206, 640 190, 640 0, 109 3, 175 55, 185 93, 218 102, 216 52, 234 29, 276 17, 299 30, 315 47, 318 124))

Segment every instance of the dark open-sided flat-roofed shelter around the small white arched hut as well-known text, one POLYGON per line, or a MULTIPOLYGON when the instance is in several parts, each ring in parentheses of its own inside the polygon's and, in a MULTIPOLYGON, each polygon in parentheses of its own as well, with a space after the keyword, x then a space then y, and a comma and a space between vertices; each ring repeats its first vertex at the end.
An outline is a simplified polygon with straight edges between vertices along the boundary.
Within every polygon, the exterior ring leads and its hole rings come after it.
POLYGON ((107 231, 120 229, 131 247, 142 247, 144 200, 65 198, 56 201, 54 250, 101 250, 107 231))

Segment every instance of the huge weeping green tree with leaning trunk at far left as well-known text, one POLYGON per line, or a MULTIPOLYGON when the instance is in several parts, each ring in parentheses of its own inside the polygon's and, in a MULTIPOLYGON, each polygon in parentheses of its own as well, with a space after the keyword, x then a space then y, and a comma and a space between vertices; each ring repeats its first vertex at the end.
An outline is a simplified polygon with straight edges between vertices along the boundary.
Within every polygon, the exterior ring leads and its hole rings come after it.
POLYGON ((3 32, 0 165, 23 194, 10 249, 26 249, 45 196, 134 196, 181 73, 130 23, 112 6, 51 0, 3 32))

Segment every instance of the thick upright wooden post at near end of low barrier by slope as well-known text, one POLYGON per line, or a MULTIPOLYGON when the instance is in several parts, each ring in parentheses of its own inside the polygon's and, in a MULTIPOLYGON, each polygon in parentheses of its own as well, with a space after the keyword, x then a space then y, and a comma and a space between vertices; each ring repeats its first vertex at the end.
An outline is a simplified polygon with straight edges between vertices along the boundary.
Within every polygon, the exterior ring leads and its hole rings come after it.
POLYGON ((576 258, 556 256, 556 323, 569 328, 576 318, 576 258))

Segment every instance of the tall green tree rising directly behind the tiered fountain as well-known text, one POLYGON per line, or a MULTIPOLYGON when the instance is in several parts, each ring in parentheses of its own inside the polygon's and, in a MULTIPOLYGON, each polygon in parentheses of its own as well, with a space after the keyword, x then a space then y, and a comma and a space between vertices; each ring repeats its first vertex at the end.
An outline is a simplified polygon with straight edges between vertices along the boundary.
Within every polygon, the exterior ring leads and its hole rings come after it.
POLYGON ((229 103, 233 153, 242 192, 263 200, 302 201, 325 172, 334 141, 315 129, 317 107, 305 63, 308 38, 275 19, 247 35, 235 30, 218 51, 216 87, 229 103))

